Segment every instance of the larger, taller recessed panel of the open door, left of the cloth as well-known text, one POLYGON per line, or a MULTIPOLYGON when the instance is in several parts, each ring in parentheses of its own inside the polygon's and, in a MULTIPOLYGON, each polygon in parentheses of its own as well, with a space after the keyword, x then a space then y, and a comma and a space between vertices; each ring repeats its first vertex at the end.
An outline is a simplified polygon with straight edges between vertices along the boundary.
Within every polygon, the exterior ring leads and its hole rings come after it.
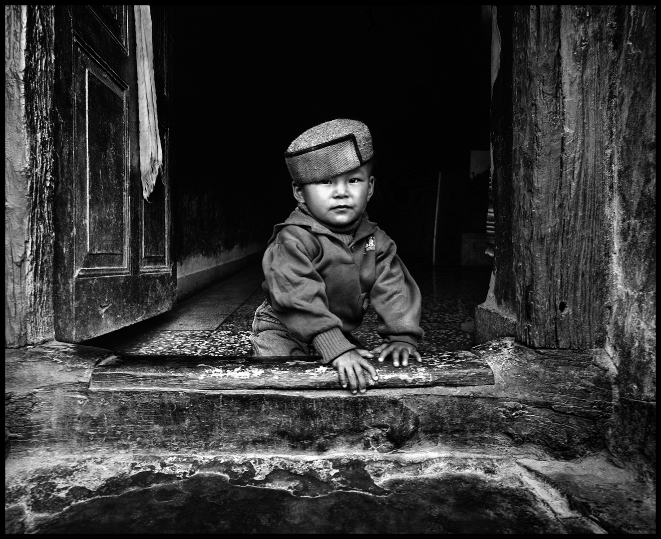
POLYGON ((74 275, 128 274, 129 89, 79 43, 74 54, 74 275))

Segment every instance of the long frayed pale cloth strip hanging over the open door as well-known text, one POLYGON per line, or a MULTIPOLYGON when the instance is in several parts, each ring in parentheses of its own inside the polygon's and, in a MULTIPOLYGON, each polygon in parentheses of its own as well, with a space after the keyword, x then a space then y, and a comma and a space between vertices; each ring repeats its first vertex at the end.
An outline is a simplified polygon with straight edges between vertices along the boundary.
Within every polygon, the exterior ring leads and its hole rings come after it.
POLYGON ((136 13, 137 112, 140 130, 140 177, 142 196, 149 201, 159 170, 163 151, 156 111, 154 54, 151 41, 151 10, 148 5, 134 6, 136 13))

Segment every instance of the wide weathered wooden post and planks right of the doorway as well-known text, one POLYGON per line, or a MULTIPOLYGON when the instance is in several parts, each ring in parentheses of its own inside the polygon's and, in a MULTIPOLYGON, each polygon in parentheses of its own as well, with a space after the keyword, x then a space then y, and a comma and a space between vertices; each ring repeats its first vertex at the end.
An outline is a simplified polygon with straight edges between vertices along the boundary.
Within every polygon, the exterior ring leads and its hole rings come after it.
POLYGON ((656 292, 654 10, 517 6, 509 33, 503 18, 492 143, 496 219, 511 223, 496 227, 496 300, 533 347, 602 347, 641 312, 622 353, 646 343, 650 357, 641 305, 656 292), (643 301, 631 305, 629 290, 643 301), (620 305, 627 313, 612 318, 620 305))

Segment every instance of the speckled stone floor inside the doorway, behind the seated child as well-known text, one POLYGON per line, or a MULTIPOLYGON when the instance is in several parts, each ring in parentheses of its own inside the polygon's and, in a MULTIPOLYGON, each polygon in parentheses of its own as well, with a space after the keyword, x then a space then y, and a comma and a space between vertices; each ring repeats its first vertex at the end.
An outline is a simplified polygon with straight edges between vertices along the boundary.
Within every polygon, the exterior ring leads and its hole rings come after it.
MULTIPOLYGON (((461 324, 473 320, 475 307, 485 301, 489 278, 489 266, 418 272, 423 357, 473 346, 473 334, 463 332, 461 324)), ((264 300, 262 281, 260 266, 251 266, 170 312, 84 344, 131 355, 250 355, 248 336, 254 310, 264 300)), ((376 326, 376 315, 369 310, 354 335, 366 347, 375 346, 379 343, 376 326)))

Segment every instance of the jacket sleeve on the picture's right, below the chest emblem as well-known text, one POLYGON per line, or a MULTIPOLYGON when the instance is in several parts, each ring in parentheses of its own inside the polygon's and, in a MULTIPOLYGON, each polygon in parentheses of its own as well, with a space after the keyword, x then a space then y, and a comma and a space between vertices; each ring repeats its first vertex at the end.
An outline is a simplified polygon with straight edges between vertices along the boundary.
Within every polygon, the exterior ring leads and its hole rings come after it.
POLYGON ((381 234, 377 238, 375 282, 369 295, 377 313, 377 332, 387 342, 403 341, 417 348, 424 336, 420 328, 420 289, 397 256, 395 242, 383 231, 381 234))

